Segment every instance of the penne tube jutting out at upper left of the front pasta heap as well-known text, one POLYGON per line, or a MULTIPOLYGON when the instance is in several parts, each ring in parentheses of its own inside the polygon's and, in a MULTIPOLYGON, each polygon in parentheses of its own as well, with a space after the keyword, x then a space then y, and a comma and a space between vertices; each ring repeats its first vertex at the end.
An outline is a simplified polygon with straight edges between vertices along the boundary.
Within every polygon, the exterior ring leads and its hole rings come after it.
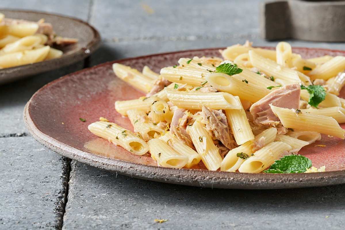
POLYGON ((120 63, 114 63, 112 65, 112 70, 118 78, 144 93, 150 92, 154 83, 151 78, 146 77, 137 69, 133 69, 120 63))

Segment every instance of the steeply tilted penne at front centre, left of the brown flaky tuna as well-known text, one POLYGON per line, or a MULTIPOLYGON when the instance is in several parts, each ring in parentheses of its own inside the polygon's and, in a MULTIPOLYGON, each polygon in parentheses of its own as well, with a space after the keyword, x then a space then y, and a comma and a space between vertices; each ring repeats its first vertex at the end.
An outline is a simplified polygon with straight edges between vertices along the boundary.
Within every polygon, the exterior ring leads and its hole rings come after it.
POLYGON ((186 131, 191 137, 196 151, 200 154, 206 168, 208 170, 219 169, 222 158, 205 125, 200 121, 195 121, 192 126, 187 126, 186 131))

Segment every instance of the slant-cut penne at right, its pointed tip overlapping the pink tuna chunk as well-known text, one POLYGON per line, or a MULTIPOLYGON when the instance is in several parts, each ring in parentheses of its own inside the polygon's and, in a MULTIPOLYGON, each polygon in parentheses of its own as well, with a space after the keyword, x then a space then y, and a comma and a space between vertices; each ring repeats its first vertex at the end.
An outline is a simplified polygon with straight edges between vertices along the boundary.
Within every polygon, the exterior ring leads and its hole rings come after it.
POLYGON ((334 118, 312 113, 296 113, 294 109, 279 108, 272 105, 271 109, 286 128, 315 131, 341 139, 345 138, 345 130, 339 126, 334 118))

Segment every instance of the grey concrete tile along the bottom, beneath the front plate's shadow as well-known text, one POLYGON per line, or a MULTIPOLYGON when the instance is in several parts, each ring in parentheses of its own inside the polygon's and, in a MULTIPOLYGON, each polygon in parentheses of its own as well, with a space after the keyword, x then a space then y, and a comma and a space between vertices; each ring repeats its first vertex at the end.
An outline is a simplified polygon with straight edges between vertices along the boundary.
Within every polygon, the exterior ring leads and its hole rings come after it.
POLYGON ((62 229, 340 229, 345 224, 345 184, 210 189, 136 179, 72 162, 62 229))

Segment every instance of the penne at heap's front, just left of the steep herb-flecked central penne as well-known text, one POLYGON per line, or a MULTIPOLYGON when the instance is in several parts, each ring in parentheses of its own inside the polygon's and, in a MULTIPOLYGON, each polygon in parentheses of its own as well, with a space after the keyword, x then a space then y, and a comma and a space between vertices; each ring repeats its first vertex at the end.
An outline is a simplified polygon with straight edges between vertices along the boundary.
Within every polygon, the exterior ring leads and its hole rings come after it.
POLYGON ((188 162, 186 164, 187 168, 191 168, 195 164, 198 164, 201 160, 199 153, 194 149, 190 148, 186 144, 182 143, 174 134, 166 132, 159 139, 164 140, 168 146, 174 149, 176 152, 179 152, 181 155, 188 157, 188 162))

